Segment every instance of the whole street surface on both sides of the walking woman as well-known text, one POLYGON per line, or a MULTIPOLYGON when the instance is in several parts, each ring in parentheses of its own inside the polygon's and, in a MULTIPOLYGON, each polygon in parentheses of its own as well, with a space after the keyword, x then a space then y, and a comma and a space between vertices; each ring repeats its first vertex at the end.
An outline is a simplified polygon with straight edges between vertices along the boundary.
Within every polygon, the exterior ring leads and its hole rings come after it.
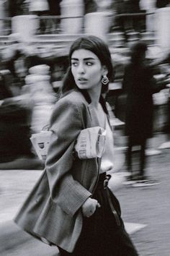
MULTIPOLYGON (((156 141, 157 144, 153 143, 152 146, 158 146, 159 142, 156 141)), ((147 157, 147 174, 161 182, 160 184, 153 187, 121 185, 115 190, 115 195, 120 200, 125 226, 140 256, 170 256, 169 159, 170 149, 163 149, 159 155, 147 157)), ((138 168, 136 160, 134 168, 138 168)), ((126 171, 125 164, 120 171, 126 171)), ((12 221, 41 173, 40 170, 0 171, 1 256, 58 255, 57 248, 33 239, 12 221)))

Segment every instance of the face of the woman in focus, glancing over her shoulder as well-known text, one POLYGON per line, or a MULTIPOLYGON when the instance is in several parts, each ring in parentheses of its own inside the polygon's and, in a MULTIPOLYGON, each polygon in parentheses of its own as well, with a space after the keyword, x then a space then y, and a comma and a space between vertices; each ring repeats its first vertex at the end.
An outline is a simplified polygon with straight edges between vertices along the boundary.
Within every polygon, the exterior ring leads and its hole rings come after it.
POLYGON ((91 90, 102 85, 106 68, 92 51, 79 49, 71 56, 71 72, 79 89, 91 90))

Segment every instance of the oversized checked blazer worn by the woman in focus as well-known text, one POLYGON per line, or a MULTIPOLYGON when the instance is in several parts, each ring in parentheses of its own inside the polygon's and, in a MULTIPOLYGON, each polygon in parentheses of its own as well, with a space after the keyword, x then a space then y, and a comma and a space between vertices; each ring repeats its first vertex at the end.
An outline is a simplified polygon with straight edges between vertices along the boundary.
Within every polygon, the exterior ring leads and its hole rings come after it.
POLYGON ((82 129, 96 126, 93 106, 79 90, 72 90, 55 104, 45 170, 14 218, 25 231, 68 252, 73 252, 79 239, 81 205, 97 184, 100 165, 97 158, 75 159, 73 148, 82 129))

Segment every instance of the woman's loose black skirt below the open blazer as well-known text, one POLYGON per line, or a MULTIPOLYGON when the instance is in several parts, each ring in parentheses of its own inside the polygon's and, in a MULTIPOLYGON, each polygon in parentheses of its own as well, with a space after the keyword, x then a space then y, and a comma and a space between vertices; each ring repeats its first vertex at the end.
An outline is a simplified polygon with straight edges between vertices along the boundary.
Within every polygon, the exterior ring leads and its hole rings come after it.
POLYGON ((99 183, 93 195, 101 207, 97 208, 90 218, 84 218, 81 236, 74 251, 68 253, 59 248, 61 256, 138 255, 120 217, 120 204, 109 188, 104 186, 105 177, 106 174, 100 174, 99 183))

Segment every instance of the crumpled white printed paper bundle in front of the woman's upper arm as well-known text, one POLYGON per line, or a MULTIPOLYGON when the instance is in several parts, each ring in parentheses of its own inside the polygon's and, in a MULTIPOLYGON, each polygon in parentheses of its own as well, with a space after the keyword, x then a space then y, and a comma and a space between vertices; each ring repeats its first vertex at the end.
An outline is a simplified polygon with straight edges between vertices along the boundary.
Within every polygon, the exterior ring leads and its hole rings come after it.
POLYGON ((106 130, 102 127, 83 129, 77 137, 75 150, 80 159, 101 158, 104 152, 106 130))

